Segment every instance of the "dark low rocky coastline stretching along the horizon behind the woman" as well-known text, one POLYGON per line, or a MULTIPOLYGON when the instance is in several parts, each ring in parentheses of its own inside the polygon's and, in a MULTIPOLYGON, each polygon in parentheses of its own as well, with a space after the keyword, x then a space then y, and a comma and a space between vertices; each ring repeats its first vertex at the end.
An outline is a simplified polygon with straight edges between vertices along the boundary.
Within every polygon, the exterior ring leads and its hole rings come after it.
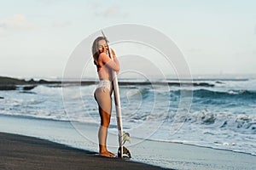
MULTIPOLYGON (((214 83, 223 83, 223 81, 248 81, 248 77, 201 77, 194 78, 191 80, 179 80, 179 79, 166 79, 165 82, 160 80, 145 81, 145 80, 130 80, 130 79, 119 79, 120 86, 138 86, 138 85, 168 85, 174 87, 180 86, 194 86, 194 87, 214 87, 214 83)), ((15 77, 0 77, 0 90, 32 90, 38 85, 45 85, 49 87, 61 87, 62 85, 67 86, 88 86, 95 85, 97 81, 93 80, 45 80, 39 79, 30 80, 20 79, 15 77)))

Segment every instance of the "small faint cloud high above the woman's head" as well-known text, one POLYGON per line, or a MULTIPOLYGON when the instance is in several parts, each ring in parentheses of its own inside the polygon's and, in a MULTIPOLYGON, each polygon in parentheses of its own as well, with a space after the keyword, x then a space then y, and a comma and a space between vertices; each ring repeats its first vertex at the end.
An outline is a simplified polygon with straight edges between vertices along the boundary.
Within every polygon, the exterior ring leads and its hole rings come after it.
POLYGON ((96 11, 94 13, 97 17, 104 17, 104 18, 126 18, 128 16, 127 13, 123 13, 120 11, 119 8, 116 7, 108 7, 105 10, 102 10, 101 12, 96 11))

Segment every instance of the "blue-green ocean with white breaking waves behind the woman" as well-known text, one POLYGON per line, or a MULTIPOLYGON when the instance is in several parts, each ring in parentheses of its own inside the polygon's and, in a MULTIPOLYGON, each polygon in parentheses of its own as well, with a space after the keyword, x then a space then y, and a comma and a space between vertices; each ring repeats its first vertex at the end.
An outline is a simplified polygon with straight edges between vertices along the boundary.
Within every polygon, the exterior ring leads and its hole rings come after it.
MULTIPOLYGON (((145 83, 120 80, 124 131, 131 144, 144 140, 193 144, 256 156, 256 78, 196 78, 194 86, 167 79, 145 83), (136 82, 136 83, 134 83, 136 82), (181 94, 184 94, 182 97, 181 94), (186 96, 186 94, 188 94, 186 96), (192 94, 192 95, 191 95, 192 94), (185 102, 183 102, 185 101, 185 102)), ((97 144, 95 132, 83 125, 98 125, 96 84, 44 84, 32 89, 0 91, 0 114, 72 122, 84 140, 97 144)), ((115 108, 108 133, 117 136, 115 108)), ((108 142, 116 145, 117 139, 108 142)), ((90 148, 88 150, 95 150, 90 148)))

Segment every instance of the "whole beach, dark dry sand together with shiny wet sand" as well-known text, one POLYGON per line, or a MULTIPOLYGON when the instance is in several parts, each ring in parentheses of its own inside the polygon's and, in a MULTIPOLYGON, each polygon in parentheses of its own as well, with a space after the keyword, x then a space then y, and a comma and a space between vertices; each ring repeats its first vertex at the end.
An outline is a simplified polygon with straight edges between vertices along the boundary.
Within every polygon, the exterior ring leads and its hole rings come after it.
MULTIPOLYGON (((5 132, 0 135, 2 169, 256 168, 256 156, 249 154, 152 140, 129 146, 131 160, 103 158, 96 156, 96 144, 84 139, 70 122, 20 116, 0 116, 0 121, 5 132)), ((90 131, 90 126, 86 128, 90 131)))

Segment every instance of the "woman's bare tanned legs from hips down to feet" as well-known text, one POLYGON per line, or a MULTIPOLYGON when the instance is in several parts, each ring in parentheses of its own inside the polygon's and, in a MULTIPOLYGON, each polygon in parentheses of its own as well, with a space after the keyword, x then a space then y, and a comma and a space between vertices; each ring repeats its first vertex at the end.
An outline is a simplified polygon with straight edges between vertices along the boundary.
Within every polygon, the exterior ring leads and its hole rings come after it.
POLYGON ((111 118, 111 96, 108 90, 102 90, 102 88, 97 88, 95 92, 96 101, 99 105, 99 113, 101 116, 101 127, 99 128, 98 138, 99 138, 99 154, 101 156, 115 157, 114 154, 107 150, 107 135, 108 126, 111 118))

